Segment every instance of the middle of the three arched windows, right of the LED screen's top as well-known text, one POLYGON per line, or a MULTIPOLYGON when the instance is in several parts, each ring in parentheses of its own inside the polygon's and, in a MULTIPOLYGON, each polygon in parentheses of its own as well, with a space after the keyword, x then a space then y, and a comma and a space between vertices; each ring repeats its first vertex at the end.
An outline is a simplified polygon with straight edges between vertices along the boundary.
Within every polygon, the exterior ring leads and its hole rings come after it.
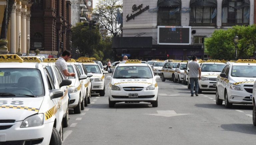
POLYGON ((190 8, 190 26, 216 26, 216 0, 191 0, 190 8))

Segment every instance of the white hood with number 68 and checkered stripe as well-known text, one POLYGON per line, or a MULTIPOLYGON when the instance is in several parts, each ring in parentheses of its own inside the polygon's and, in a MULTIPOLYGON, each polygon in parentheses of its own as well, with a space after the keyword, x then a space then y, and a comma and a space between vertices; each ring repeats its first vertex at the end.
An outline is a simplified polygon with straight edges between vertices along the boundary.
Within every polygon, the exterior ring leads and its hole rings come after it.
POLYGON ((39 112, 43 97, 38 98, 0 98, 0 120, 21 121, 39 112))

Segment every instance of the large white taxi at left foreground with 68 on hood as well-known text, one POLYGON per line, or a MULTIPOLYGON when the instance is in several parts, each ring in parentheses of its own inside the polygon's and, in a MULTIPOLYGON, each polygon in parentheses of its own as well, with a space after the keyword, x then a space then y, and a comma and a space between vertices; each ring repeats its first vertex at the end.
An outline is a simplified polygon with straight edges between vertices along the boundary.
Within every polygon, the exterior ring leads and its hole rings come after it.
POLYGON ((55 88, 44 65, 0 55, 0 143, 61 144, 63 99, 67 91, 55 88))

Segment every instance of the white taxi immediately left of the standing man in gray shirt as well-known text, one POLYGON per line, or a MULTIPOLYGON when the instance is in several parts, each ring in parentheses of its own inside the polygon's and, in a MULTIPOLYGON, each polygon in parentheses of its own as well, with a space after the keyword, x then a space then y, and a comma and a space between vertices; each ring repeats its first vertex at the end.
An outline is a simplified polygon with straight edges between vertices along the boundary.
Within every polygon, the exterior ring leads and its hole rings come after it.
POLYGON ((174 72, 174 75, 175 75, 174 83, 176 82, 181 83, 183 81, 184 67, 186 67, 186 64, 187 64, 187 61, 185 60, 178 63, 174 72))

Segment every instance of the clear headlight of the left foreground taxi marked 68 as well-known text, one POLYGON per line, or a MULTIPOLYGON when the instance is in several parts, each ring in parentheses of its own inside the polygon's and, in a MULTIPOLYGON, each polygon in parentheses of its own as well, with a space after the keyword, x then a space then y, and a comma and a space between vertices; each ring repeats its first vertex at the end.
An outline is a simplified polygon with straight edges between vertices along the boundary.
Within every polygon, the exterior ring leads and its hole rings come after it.
POLYGON ((21 128, 42 126, 44 124, 44 114, 36 114, 23 120, 21 128))

